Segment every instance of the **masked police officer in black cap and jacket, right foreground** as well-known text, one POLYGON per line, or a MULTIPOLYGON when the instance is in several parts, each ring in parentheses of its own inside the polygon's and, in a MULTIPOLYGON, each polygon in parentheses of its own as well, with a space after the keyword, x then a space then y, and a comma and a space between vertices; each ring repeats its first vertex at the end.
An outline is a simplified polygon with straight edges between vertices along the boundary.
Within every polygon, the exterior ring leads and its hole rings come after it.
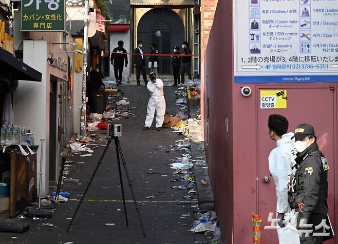
MULTIPOLYGON (((298 212, 297 229, 305 230, 304 223, 312 224, 313 233, 323 233, 323 227, 315 230, 326 219, 328 212, 327 205, 327 173, 329 165, 326 157, 318 149, 314 129, 309 124, 298 125, 294 133, 295 149, 298 154, 295 173, 295 193, 289 197, 291 208, 298 212), (300 225, 303 219, 303 225, 300 225)), ((328 223, 327 223, 328 224, 328 223)), ((302 231, 303 232, 303 231, 302 231)), ((304 233, 304 232, 303 232, 304 233)), ((300 237, 301 243, 320 244, 323 243, 323 236, 300 237)))

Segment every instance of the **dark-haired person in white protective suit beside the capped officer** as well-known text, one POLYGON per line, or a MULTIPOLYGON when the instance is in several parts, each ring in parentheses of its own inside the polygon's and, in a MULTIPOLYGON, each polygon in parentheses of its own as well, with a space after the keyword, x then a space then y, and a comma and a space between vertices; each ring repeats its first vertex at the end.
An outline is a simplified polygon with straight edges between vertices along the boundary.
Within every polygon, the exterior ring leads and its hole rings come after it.
POLYGON ((295 173, 292 169, 296 157, 294 138, 291 139, 293 133, 287 133, 288 120, 279 114, 269 116, 268 127, 270 138, 277 144, 269 155, 269 170, 276 184, 279 244, 299 244, 294 210, 290 210, 288 202, 288 177, 295 173))

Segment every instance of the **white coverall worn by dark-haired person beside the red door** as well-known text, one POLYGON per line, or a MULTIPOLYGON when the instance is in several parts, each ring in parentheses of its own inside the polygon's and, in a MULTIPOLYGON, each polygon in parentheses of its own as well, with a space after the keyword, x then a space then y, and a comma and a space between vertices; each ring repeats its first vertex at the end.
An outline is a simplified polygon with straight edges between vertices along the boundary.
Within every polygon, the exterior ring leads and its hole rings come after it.
MULTIPOLYGON (((292 136, 292 132, 281 136, 281 139, 277 140, 277 147, 269 155, 269 170, 276 184, 278 213, 290 213, 288 175, 294 174, 291 168, 296 163, 295 155, 291 152, 294 149, 294 138, 291 139, 292 136)), ((294 210, 291 211, 292 216, 293 214, 294 210)), ((296 221, 289 222, 288 225, 292 228, 288 228, 286 225, 284 228, 277 229, 279 244, 299 244, 296 221)))

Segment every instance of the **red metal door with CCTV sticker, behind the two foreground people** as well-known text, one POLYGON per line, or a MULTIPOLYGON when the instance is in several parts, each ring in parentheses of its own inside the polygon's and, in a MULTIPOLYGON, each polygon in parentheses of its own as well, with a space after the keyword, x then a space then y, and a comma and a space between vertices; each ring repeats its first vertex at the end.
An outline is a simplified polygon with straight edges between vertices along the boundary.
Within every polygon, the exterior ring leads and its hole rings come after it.
MULTIPOLYGON (((275 240, 271 243, 277 243, 277 232, 274 230, 264 230, 264 226, 270 226, 268 215, 276 211, 275 183, 270 176, 268 156, 270 151, 276 147, 275 141, 270 139, 268 134, 268 117, 270 114, 280 114, 289 121, 288 131, 293 132, 296 125, 308 123, 314 127, 317 136, 317 143, 320 150, 327 156, 330 170, 328 172, 329 192, 328 205, 331 219, 336 216, 334 203, 334 181, 336 165, 335 152, 335 97, 336 90, 332 86, 312 86, 300 87, 289 86, 278 88, 259 88, 257 89, 257 201, 258 213, 262 218, 261 236, 265 240, 275 240), (286 90, 287 91, 287 109, 259 109, 260 90, 286 90), (314 99, 315 98, 315 99, 314 99), (264 181, 263 177, 268 177, 264 181)), ((275 216, 275 215, 274 215, 275 216)), ((334 221, 332 221, 334 226, 334 221)), ((335 229, 335 228, 333 228, 335 229)), ((328 241, 328 243, 331 243, 328 241)), ((333 243, 333 242, 332 242, 333 243)))

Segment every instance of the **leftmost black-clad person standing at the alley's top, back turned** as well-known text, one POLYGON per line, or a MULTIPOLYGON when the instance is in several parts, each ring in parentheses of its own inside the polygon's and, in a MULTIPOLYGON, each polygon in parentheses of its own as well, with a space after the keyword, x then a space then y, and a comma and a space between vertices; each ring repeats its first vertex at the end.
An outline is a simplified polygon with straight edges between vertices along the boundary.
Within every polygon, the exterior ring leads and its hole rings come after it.
POLYGON ((125 67, 128 66, 128 56, 127 54, 124 54, 127 53, 127 51, 123 48, 123 41, 119 40, 117 45, 118 47, 112 50, 110 63, 114 66, 117 86, 120 86, 123 73, 123 63, 125 62, 125 67))

